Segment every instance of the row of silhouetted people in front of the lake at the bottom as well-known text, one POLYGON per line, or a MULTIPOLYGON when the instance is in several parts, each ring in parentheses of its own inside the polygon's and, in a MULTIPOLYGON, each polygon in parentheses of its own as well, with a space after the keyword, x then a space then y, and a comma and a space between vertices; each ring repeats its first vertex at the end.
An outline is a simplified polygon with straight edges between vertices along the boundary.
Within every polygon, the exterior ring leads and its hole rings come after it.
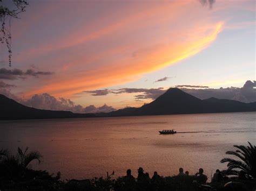
MULTIPOLYGON (((199 168, 199 171, 194 175, 189 175, 188 171, 184 173, 183 168, 179 168, 179 173, 176 176, 167 176, 164 178, 164 176, 160 176, 157 172, 154 172, 152 178, 150 178, 149 173, 145 173, 144 169, 142 167, 139 167, 137 179, 134 178, 134 176, 131 174, 131 169, 127 169, 126 176, 123 176, 123 186, 125 187, 124 190, 158 190, 159 187, 166 185, 166 183, 169 183, 170 186, 171 180, 171 182, 173 182, 174 188, 175 185, 192 185, 209 188, 211 186, 206 184, 207 179, 208 178, 204 174, 203 168, 199 168)), ((244 171, 240 171, 238 179, 246 180, 246 173, 244 171)), ((227 180, 228 177, 223 176, 220 170, 217 169, 212 177, 211 182, 214 185, 214 183, 218 184, 218 182, 225 182, 227 180)), ((246 185, 241 182, 230 181, 225 183, 224 187, 238 188, 235 190, 246 190, 244 189, 246 188, 246 185)))

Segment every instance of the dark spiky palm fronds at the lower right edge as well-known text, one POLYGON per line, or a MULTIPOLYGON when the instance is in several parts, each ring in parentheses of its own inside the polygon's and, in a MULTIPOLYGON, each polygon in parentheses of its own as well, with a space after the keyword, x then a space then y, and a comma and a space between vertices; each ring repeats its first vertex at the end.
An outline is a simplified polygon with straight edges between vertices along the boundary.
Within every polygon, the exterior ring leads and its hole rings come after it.
POLYGON ((240 160, 232 158, 224 158, 220 162, 228 162, 227 169, 224 171, 227 175, 239 175, 240 171, 244 171, 247 175, 256 178, 256 146, 248 142, 249 146, 234 145, 238 148, 236 151, 227 151, 226 154, 234 155, 240 160))

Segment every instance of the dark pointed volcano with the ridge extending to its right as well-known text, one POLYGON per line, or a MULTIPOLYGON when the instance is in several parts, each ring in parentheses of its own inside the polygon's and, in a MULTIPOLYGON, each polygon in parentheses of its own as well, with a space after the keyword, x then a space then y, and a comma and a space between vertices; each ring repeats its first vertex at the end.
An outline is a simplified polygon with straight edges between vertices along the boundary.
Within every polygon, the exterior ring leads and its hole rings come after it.
POLYGON ((256 111, 256 102, 242 103, 234 100, 221 100, 214 97, 200 100, 178 88, 170 88, 163 95, 140 108, 112 111, 109 116, 207 114, 217 112, 256 111))

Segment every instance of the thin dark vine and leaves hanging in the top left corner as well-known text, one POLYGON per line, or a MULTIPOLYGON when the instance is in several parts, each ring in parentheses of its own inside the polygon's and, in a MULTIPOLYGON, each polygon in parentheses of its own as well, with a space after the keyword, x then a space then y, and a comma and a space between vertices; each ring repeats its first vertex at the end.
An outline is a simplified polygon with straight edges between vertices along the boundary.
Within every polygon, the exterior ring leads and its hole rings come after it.
POLYGON ((11 18, 19 18, 18 14, 25 12, 26 5, 28 2, 26 0, 12 0, 12 1, 3 1, 0 0, 0 22, 1 22, 1 32, 0 32, 0 43, 6 44, 9 53, 9 66, 11 67, 11 18), (5 3, 5 5, 4 5, 5 3), (6 20, 8 25, 6 25, 6 20))

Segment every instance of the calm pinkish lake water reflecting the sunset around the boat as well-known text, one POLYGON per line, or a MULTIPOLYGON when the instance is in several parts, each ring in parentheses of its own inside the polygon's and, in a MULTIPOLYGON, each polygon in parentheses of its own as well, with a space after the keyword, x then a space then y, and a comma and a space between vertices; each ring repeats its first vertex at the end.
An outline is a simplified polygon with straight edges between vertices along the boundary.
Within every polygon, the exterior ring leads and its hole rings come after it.
POLYGON ((152 176, 173 175, 178 168, 194 174, 204 168, 208 180, 234 144, 256 144, 256 112, 140 117, 0 121, 0 148, 40 151, 33 168, 63 179, 124 175, 143 167, 152 176), (159 135, 175 129, 175 135, 159 135))

